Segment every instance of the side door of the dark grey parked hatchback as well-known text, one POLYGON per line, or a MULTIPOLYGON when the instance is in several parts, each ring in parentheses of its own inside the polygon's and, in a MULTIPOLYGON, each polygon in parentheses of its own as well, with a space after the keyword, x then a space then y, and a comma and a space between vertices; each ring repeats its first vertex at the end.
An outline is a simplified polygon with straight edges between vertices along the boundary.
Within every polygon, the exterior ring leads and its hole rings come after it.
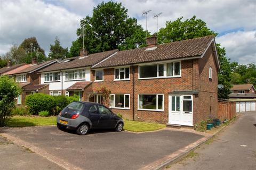
POLYGON ((99 128, 108 129, 115 127, 115 118, 113 113, 105 106, 98 105, 99 108, 99 128))

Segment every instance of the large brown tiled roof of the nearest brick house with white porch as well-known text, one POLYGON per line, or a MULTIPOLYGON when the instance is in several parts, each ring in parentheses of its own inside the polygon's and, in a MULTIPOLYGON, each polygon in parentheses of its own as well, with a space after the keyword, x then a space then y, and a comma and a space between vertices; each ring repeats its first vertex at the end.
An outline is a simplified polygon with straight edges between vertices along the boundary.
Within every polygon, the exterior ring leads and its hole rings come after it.
POLYGON ((175 58, 185 58, 201 56, 209 47, 214 36, 206 36, 173 43, 158 45, 156 49, 146 50, 146 47, 130 49, 118 52, 107 60, 95 64, 93 68, 111 67, 119 65, 130 65, 143 62, 153 62, 170 60, 175 58))

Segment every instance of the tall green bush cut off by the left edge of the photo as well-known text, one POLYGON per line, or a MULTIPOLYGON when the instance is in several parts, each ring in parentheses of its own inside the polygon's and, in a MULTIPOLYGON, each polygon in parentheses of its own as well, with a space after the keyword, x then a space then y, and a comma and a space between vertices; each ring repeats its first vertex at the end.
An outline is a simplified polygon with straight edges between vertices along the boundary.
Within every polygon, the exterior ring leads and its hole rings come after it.
POLYGON ((15 98, 21 94, 21 88, 14 79, 6 76, 0 77, 0 127, 3 127, 11 116, 15 106, 15 98))

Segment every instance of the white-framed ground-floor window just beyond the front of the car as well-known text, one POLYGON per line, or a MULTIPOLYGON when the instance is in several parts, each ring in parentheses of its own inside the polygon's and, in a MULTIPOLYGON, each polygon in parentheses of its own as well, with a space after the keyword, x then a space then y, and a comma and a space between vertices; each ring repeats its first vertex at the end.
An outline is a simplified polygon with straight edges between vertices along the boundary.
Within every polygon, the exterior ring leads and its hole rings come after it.
POLYGON ((110 107, 130 109, 130 95, 129 94, 111 94, 110 107))

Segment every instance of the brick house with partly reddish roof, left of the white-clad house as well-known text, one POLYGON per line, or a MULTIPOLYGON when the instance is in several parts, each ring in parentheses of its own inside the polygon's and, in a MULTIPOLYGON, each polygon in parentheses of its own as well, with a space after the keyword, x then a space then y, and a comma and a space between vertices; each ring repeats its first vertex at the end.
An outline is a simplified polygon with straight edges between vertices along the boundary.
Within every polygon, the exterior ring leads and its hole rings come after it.
POLYGON ((20 84, 20 87, 23 90, 22 94, 17 98, 17 105, 25 104, 27 95, 34 94, 35 92, 47 93, 49 91, 48 84, 40 84, 40 75, 37 74, 37 71, 56 62, 57 60, 51 60, 36 63, 36 61, 33 60, 31 64, 23 64, 15 69, 3 73, 3 75, 13 77, 15 81, 20 84))

